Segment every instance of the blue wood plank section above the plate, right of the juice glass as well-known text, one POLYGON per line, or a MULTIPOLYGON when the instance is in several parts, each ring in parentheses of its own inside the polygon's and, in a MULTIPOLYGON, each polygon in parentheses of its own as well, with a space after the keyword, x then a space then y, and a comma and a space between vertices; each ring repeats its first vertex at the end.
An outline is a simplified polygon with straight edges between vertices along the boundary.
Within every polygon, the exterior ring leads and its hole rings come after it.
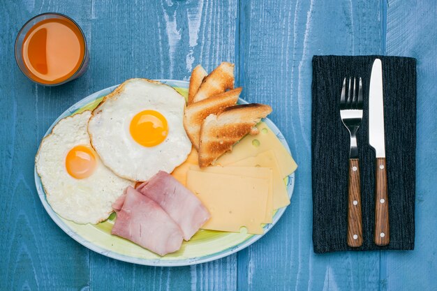
POLYGON ((95 1, 91 75, 108 87, 130 77, 188 80, 202 64, 235 61, 237 3, 95 1))

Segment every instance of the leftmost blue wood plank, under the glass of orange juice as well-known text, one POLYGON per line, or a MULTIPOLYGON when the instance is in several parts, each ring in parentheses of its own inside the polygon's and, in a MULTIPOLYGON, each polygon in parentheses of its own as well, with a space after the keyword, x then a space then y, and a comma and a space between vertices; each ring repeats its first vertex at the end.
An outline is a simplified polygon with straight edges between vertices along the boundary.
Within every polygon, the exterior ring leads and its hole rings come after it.
POLYGON ((87 94, 86 86, 36 86, 22 75, 13 55, 15 36, 31 16, 45 11, 73 14, 86 29, 88 10, 88 3, 75 1, 59 6, 13 1, 0 9, 0 55, 7 68, 0 72, 0 290, 81 290, 89 283, 89 251, 47 216, 34 186, 34 156, 41 136, 74 102, 74 92, 87 94))

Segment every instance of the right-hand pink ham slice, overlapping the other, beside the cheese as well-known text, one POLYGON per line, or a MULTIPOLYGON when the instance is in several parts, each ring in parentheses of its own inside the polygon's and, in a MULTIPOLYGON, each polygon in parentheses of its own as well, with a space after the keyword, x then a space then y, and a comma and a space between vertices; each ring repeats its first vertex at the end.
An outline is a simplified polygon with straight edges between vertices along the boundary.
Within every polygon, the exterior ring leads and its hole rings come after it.
POLYGON ((137 191, 158 203, 179 225, 188 241, 209 219, 210 214, 202 202, 172 175, 159 171, 137 191))

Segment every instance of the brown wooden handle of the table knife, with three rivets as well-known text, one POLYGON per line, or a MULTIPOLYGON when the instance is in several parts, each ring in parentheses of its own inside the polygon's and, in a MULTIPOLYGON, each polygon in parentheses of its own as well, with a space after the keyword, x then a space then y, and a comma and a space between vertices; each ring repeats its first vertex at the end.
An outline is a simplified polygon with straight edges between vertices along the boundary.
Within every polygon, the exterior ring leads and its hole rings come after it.
POLYGON ((376 158, 375 182, 375 244, 387 246, 390 243, 388 219, 387 165, 385 158, 376 158))

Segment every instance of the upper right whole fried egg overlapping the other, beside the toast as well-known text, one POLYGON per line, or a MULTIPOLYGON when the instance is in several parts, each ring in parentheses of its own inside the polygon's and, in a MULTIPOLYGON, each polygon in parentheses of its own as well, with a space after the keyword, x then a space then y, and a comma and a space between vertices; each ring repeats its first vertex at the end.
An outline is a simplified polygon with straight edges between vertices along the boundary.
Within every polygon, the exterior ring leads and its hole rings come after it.
POLYGON ((172 172, 191 151, 185 98, 161 82, 131 79, 103 99, 89 119, 91 144, 120 177, 146 181, 172 172))

